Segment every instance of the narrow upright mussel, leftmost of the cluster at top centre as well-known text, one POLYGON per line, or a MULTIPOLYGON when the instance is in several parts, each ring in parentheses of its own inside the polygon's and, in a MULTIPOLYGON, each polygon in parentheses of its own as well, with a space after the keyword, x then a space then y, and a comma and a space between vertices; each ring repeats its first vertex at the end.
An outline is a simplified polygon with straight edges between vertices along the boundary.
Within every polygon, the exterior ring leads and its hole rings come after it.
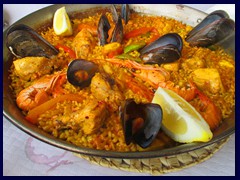
POLYGON ((107 44, 108 39, 108 31, 111 28, 108 18, 105 14, 102 14, 99 22, 98 22, 98 39, 100 41, 100 45, 104 46, 107 44))

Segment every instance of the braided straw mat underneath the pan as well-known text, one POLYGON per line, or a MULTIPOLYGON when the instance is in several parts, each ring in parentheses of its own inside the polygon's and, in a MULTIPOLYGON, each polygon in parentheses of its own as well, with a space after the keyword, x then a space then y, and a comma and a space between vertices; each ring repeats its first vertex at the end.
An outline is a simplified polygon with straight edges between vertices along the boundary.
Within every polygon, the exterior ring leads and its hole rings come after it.
POLYGON ((219 142, 211 144, 207 147, 182 153, 178 155, 157 157, 150 159, 117 159, 117 158, 102 158, 96 156, 88 156, 74 153, 74 155, 86 159, 100 166, 131 171, 139 173, 149 173, 152 175, 160 175, 164 173, 179 171, 183 168, 194 166, 203 162, 214 153, 216 153, 227 141, 229 137, 219 142))

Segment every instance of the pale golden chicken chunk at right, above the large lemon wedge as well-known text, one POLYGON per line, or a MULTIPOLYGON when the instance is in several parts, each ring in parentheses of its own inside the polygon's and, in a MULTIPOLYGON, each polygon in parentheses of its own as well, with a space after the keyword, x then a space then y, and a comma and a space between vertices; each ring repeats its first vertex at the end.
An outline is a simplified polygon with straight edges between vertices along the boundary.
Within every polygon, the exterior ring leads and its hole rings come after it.
POLYGON ((191 74, 193 82, 198 88, 208 90, 211 93, 223 92, 221 77, 217 69, 201 68, 196 69, 191 74))

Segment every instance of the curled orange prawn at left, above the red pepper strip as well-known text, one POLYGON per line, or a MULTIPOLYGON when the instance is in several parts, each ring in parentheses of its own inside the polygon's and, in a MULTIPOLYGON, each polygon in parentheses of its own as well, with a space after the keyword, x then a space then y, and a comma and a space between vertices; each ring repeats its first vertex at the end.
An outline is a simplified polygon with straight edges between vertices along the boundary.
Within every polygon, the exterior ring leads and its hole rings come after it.
POLYGON ((17 95, 18 107, 29 111, 49 100, 51 95, 63 94, 61 85, 64 82, 66 82, 66 73, 43 76, 17 95))

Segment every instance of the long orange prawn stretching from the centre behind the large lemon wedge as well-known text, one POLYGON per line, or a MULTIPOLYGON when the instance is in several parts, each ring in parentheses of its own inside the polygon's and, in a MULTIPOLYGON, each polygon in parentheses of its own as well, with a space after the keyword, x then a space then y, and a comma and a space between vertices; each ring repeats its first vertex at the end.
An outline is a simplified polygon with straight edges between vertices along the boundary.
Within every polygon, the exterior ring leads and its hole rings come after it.
MULTIPOLYGON (((127 68, 129 73, 141 79, 143 82, 148 83, 154 89, 157 89, 158 87, 170 89, 183 97, 186 101, 191 101, 196 97, 195 86, 193 86, 190 82, 188 85, 186 85, 186 87, 182 88, 175 85, 172 81, 170 81, 170 74, 164 68, 141 65, 130 60, 121 61, 116 58, 105 59, 105 61, 110 62, 114 65, 118 65, 119 67, 127 68)), ((107 72, 110 71, 111 73, 111 70, 109 70, 109 68, 106 69, 107 72)), ((128 76, 126 73, 123 73, 122 76, 118 74, 118 78, 121 78, 122 81, 125 81, 128 85, 128 88, 132 89, 135 93, 141 94, 143 97, 148 99, 149 102, 152 100, 153 93, 149 90, 146 90, 146 87, 139 88, 139 83, 134 83, 136 80, 133 79, 133 77, 128 76)))

